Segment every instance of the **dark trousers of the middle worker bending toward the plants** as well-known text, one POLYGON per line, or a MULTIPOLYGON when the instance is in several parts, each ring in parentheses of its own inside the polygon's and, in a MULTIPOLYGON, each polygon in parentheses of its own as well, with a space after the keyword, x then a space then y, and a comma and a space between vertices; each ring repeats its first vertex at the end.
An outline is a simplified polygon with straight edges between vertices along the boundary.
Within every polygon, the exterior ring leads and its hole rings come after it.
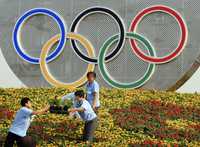
POLYGON ((83 130, 83 140, 84 141, 93 141, 94 132, 97 128, 97 125, 98 125, 97 118, 95 118, 91 121, 85 122, 84 130, 83 130))

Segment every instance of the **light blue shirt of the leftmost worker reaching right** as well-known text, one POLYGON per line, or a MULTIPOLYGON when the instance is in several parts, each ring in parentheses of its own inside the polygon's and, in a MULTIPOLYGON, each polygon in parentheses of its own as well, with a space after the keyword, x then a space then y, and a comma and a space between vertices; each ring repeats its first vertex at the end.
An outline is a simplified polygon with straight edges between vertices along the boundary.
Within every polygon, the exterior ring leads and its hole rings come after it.
POLYGON ((9 132, 18 136, 26 136, 26 132, 31 123, 32 110, 26 107, 22 107, 16 113, 15 119, 9 129, 9 132))

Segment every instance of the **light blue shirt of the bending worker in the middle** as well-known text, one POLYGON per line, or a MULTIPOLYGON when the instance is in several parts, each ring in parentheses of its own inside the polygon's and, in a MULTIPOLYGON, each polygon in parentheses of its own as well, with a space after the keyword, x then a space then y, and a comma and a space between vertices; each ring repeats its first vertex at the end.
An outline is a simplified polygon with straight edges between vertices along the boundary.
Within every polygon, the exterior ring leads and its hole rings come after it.
POLYGON ((85 109, 83 112, 78 112, 82 120, 91 121, 97 117, 94 110, 92 109, 92 106, 87 100, 83 100, 80 107, 85 109))

